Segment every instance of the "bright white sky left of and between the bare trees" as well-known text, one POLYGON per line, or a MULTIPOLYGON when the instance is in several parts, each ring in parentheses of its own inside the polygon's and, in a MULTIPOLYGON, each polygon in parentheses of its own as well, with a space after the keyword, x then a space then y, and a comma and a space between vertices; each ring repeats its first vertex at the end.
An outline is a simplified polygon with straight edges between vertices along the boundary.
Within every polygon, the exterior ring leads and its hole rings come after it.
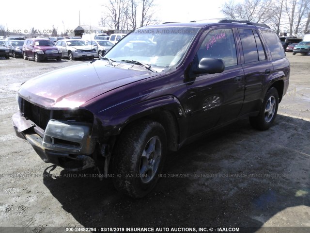
MULTIPOLYGON (((155 0, 156 16, 160 22, 221 18, 220 8, 223 2, 225 0, 155 0)), ((54 25, 61 33, 78 27, 79 12, 81 25, 95 26, 103 12, 107 11, 104 6, 106 3, 107 0, 14 0, 10 4, 2 4, 0 25, 11 32, 30 31, 32 27, 52 30, 54 25)), ((137 19, 139 18, 140 14, 137 19)))

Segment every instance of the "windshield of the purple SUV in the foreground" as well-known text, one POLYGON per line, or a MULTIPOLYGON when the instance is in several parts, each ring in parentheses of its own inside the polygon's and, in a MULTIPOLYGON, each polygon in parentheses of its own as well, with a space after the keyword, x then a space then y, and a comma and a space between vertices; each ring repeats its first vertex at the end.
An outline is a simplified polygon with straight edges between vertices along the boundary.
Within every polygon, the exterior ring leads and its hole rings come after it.
POLYGON ((138 61, 152 67, 172 67, 184 57, 199 28, 137 29, 119 41, 104 57, 138 61))

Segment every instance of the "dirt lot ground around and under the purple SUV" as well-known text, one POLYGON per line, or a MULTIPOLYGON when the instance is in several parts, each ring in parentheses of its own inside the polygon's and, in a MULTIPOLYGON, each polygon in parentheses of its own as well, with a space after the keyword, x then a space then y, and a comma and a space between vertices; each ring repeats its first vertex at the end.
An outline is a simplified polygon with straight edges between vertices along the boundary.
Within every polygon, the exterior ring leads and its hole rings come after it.
POLYGON ((290 86, 274 127, 259 132, 241 120, 170 154, 166 178, 141 200, 120 194, 109 179, 90 178, 93 170, 53 170, 13 132, 21 83, 89 61, 0 58, 0 232, 25 231, 12 226, 32 232, 66 232, 45 228, 57 226, 310 232, 310 56, 287 56, 290 86))

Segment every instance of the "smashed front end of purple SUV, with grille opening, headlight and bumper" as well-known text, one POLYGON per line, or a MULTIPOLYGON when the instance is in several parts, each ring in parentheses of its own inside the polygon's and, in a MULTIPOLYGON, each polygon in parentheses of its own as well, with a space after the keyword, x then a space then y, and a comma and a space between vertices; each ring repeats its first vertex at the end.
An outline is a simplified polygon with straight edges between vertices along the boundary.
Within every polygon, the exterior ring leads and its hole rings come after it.
POLYGON ((19 97, 12 116, 16 135, 29 141, 46 163, 70 171, 95 166, 93 114, 87 110, 49 110, 19 97))

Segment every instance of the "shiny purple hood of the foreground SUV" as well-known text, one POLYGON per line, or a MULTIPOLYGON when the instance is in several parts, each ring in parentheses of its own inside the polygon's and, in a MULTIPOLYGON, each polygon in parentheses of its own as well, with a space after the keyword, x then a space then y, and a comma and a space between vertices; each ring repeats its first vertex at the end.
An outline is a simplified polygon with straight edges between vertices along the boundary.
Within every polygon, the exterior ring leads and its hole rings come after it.
POLYGON ((109 65, 106 60, 58 69, 22 84, 19 96, 41 107, 72 109, 115 88, 158 73, 109 65))

